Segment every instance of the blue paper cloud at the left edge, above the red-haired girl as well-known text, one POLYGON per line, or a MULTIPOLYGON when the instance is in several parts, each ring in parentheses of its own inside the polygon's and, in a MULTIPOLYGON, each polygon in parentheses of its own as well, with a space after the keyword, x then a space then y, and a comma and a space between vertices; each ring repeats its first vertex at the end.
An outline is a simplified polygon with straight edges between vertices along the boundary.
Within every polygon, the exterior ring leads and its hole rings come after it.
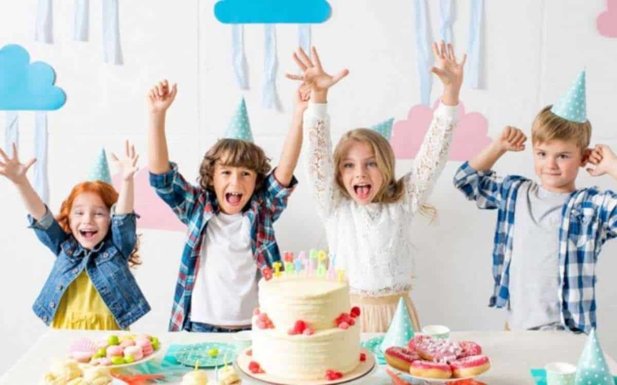
POLYGON ((56 73, 47 63, 30 63, 22 46, 9 44, 0 49, 0 110, 57 110, 67 101, 64 91, 54 86, 56 73))

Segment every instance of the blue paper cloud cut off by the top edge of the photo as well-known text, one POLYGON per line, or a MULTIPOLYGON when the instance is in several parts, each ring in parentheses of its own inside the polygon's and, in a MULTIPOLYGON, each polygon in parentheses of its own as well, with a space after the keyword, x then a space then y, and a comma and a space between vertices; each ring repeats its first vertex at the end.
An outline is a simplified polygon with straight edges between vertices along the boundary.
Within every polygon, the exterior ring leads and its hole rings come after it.
POLYGON ((226 24, 323 23, 330 17, 326 0, 220 0, 214 15, 226 24))

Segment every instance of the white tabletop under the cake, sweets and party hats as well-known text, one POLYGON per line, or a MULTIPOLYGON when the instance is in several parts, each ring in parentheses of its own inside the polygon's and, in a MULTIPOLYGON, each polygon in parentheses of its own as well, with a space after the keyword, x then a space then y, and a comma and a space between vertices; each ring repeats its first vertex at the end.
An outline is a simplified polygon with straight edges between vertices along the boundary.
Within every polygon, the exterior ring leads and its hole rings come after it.
MULTIPOLYGON (((135 331, 133 331, 135 333, 135 331)), ((2 377, 0 384, 26 385, 38 384, 43 374, 49 370, 53 357, 62 357, 70 344, 82 337, 100 339, 109 334, 97 331, 53 330, 47 331, 31 349, 26 352, 2 377)), ((224 333, 159 333, 155 334, 162 343, 191 344, 205 341, 233 342, 224 333)), ((362 339, 378 334, 363 334, 362 339)), ((542 368, 545 363, 562 361, 576 365, 586 341, 586 336, 565 332, 544 331, 469 331, 453 332, 452 339, 478 342, 491 359, 491 370, 478 379, 489 385, 534 384, 529 369, 542 368)), ((600 335, 600 338, 602 336, 600 335)), ((600 339, 602 343, 602 339, 600 339)), ((617 364, 608 357, 613 374, 617 364)), ((190 370, 187 368, 187 370, 190 370)), ((213 379, 213 375, 211 379, 213 379)), ((213 383, 213 381, 211 382, 213 383)), ((389 379, 379 370, 363 382, 366 385, 390 384, 389 379)), ((248 384, 247 384, 248 385, 248 384)))

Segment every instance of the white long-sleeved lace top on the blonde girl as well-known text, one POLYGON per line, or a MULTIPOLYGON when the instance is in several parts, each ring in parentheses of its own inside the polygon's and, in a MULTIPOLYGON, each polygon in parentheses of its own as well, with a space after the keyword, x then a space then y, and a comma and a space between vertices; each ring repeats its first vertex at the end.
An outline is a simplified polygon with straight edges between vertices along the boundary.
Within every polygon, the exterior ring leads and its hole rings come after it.
POLYGON ((304 113, 307 172, 325 221, 329 252, 345 269, 351 292, 387 296, 408 291, 414 277, 410 230, 447 161, 457 107, 440 104, 415 158, 403 177, 404 198, 396 203, 360 206, 343 195, 335 182, 335 165, 326 104, 309 105, 304 113))

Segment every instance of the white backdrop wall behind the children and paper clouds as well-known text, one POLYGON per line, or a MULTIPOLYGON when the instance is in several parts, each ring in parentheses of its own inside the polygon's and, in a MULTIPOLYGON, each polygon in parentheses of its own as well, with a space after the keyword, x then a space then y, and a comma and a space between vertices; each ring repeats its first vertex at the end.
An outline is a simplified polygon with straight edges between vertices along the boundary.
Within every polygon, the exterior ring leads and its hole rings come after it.
MULTIPOLYGON (((297 45, 295 25, 277 26, 277 87, 282 112, 260 104, 263 80, 263 27, 245 28, 251 90, 241 92, 231 68, 231 30, 213 17, 212 0, 120 2, 120 33, 125 65, 102 63, 101 6, 91 1, 88 43, 72 39, 73 2, 54 2, 54 41, 35 43, 36 0, 4 1, 0 11, 0 46, 17 43, 31 60, 49 63, 67 103, 49 113, 51 208, 57 211, 70 188, 86 177, 97 151, 119 151, 122 141, 135 142, 146 165, 147 90, 159 79, 178 83, 179 94, 168 113, 170 154, 190 180, 202 155, 222 135, 239 97, 246 97, 255 140, 273 163, 278 161, 289 126, 294 84, 284 71, 295 71, 291 53, 297 45)), ((349 68, 350 75, 329 95, 333 139, 350 128, 394 116, 404 120, 420 103, 416 71, 415 9, 412 1, 331 0, 333 15, 312 28, 312 41, 329 71, 349 68)), ((433 36, 439 30, 439 2, 429 0, 433 36)), ((587 108, 594 124, 592 142, 617 146, 613 105, 617 100, 617 39, 598 34, 595 20, 604 0, 486 1, 484 71, 486 89, 464 88, 467 111, 489 121, 489 136, 505 124, 529 132, 532 118, 565 91, 581 68, 587 69, 587 108)), ((454 41, 466 50, 470 1, 456 2, 454 41)), ((434 86, 431 99, 441 92, 434 86)), ((33 113, 20 114, 22 158, 34 150, 33 113)), ((4 118, 0 116, 0 121, 4 118)), ((4 124, 4 123, 2 123, 4 124)), ((529 146, 531 147, 531 146, 529 146)), ((508 154, 496 169, 533 176, 531 150, 508 154)), ((399 160, 403 174, 411 160, 399 160)), ((491 250, 496 213, 478 211, 452 187, 460 162, 450 161, 430 201, 439 220, 415 225, 417 282, 412 293, 421 322, 443 323, 453 330, 503 329, 505 315, 486 305, 492 290, 491 250)), ((113 172, 113 170, 112 170, 113 172)), ((297 170, 300 185, 276 224, 281 249, 326 248, 323 227, 305 183, 304 161, 297 170)), ((610 177, 592 179, 581 172, 579 186, 614 188, 610 177)), ((25 212, 10 182, 0 179, 0 371, 25 352, 46 326, 31 311, 51 268, 53 257, 26 229, 25 212)), ((139 197, 137 197, 139 199, 139 197)), ((184 234, 143 229, 136 271, 152 312, 133 330, 167 329, 184 234)), ((598 318, 605 349, 617 354, 617 243, 608 243, 598 271, 598 318)))

